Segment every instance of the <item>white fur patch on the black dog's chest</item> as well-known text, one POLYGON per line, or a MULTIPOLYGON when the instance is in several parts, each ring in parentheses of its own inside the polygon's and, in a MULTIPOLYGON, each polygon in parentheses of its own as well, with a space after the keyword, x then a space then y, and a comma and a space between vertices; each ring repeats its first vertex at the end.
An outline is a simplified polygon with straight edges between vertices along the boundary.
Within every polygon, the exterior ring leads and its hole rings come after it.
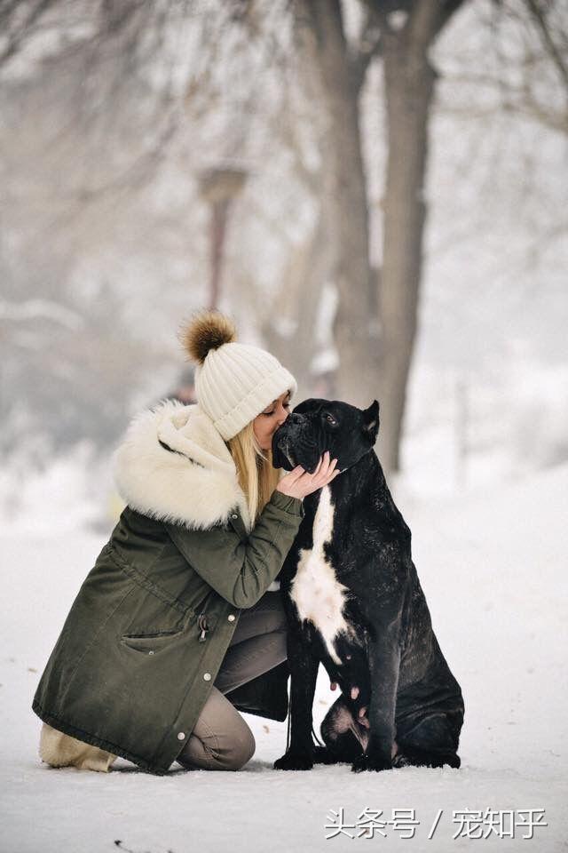
POLYGON ((333 525, 334 507, 329 487, 324 486, 313 520, 313 548, 300 550, 290 597, 296 604, 299 618, 313 622, 326 643, 329 656, 336 664, 341 664, 341 658, 334 648, 334 639, 342 631, 351 633, 351 626, 343 616, 348 587, 335 578, 333 566, 327 562, 324 554, 323 546, 331 541, 333 525))

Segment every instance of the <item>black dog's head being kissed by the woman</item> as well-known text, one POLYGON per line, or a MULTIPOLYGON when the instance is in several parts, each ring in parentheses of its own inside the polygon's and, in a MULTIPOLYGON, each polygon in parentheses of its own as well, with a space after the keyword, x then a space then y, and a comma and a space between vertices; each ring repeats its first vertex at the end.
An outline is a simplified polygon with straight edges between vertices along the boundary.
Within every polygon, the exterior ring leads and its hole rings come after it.
POLYGON ((310 474, 329 450, 343 471, 371 450, 379 432, 379 403, 358 409, 340 400, 310 397, 296 406, 272 435, 272 465, 291 471, 301 465, 310 474))

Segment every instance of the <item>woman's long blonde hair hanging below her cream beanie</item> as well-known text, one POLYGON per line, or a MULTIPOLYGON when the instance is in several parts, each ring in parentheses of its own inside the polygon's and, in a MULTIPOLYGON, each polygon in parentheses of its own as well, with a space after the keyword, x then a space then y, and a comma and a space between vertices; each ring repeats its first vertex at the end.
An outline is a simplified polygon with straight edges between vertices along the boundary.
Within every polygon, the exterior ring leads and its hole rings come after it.
POLYGON ((263 450, 256 441, 253 421, 233 435, 227 444, 237 468, 239 485, 247 498, 248 514, 254 527, 278 485, 280 471, 272 467, 272 449, 263 450))

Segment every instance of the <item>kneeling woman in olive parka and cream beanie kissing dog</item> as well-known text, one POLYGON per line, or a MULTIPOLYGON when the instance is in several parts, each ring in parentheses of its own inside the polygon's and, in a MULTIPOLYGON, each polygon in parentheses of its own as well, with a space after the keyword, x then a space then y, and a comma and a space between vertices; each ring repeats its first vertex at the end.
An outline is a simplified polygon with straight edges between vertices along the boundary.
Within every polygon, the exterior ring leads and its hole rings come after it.
POLYGON ((283 720, 286 624, 274 580, 302 499, 339 472, 272 467, 296 380, 237 343, 217 312, 184 333, 198 403, 162 403, 115 455, 127 506, 83 582, 33 708, 52 766, 107 770, 116 756, 162 774, 240 769, 255 741, 237 708, 283 720))

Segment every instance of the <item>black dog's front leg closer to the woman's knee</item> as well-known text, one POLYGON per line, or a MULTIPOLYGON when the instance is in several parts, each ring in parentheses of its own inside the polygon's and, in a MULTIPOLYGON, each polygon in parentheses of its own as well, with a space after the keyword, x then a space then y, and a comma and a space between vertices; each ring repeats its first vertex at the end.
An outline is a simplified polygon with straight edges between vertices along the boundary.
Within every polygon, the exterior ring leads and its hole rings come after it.
POLYGON ((314 654, 309 632, 298 626, 288 631, 290 669, 290 745, 274 762, 277 770, 311 770, 313 767, 312 706, 319 658, 314 654))

